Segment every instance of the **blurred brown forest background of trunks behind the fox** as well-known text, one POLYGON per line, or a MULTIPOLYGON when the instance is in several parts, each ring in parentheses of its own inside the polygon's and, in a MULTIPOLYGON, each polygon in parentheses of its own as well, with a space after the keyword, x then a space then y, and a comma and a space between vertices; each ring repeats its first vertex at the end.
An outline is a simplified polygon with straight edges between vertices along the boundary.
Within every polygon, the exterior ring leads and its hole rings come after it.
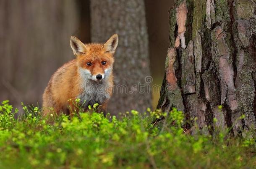
MULTIPOLYGON (((50 76, 75 58, 71 35, 84 43, 104 43, 118 33, 115 84, 131 86, 151 75, 151 85, 160 86, 173 1, 0 0, 0 100, 8 99, 17 108, 21 102, 41 106, 50 76)), ((108 110, 141 111, 141 105, 157 105, 159 93, 152 100, 151 93, 140 95, 114 94, 108 110)))

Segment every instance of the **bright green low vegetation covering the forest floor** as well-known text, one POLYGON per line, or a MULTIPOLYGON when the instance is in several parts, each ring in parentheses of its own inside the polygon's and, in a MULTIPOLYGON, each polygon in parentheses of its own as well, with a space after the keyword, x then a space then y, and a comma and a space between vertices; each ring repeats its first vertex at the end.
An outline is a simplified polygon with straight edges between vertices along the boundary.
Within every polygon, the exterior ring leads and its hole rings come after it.
MULTIPOLYGON (((97 104, 94 105, 94 109, 97 104)), ((0 106, 0 168, 240 168, 256 166, 255 139, 185 134, 184 115, 147 110, 120 119, 93 110, 72 118, 0 106), (162 125, 152 121, 165 116, 162 125)), ((241 117, 243 118, 243 117, 241 117)), ((251 135, 251 134, 249 134, 251 135)))

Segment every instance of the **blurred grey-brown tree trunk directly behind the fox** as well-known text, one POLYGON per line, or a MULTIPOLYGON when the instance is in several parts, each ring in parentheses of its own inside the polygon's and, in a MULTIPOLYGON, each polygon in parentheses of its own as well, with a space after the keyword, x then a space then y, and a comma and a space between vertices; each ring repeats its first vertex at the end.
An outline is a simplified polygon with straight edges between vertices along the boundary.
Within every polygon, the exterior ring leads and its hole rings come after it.
POLYGON ((114 33, 119 36, 108 112, 145 111, 151 106, 152 79, 145 81, 150 71, 144 1, 91 0, 90 9, 92 42, 102 43, 114 33))

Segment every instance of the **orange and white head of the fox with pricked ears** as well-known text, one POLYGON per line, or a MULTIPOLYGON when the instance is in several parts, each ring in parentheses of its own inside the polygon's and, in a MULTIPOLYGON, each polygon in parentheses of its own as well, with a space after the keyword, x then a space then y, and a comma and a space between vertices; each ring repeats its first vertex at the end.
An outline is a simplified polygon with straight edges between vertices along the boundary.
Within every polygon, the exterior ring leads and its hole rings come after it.
POLYGON ((71 36, 70 45, 76 55, 80 76, 84 79, 102 81, 112 73, 118 35, 112 35, 104 44, 84 44, 71 36))

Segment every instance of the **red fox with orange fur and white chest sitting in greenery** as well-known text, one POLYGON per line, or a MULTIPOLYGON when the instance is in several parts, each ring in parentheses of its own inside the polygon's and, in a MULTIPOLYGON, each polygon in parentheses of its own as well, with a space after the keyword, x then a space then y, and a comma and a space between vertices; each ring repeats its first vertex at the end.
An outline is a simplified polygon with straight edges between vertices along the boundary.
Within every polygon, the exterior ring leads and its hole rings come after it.
POLYGON ((71 36, 70 45, 76 59, 65 63, 50 78, 43 94, 43 114, 70 114, 77 98, 85 111, 89 105, 99 103, 99 111, 105 114, 113 90, 113 55, 118 35, 112 35, 104 44, 84 44, 71 36))

